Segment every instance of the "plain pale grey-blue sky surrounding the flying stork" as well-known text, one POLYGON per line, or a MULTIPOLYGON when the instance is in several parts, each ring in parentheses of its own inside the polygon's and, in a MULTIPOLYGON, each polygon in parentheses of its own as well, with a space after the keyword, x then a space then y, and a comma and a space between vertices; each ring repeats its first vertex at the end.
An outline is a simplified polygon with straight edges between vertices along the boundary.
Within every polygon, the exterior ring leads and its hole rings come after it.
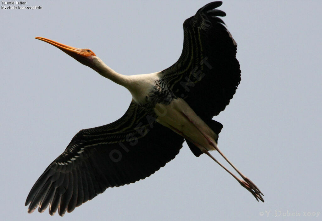
POLYGON ((125 88, 34 37, 90 48, 122 74, 152 73, 179 58, 182 23, 208 2, 27 1, 43 9, 0 10, 1 220, 321 220, 308 217, 322 212, 318 0, 220 7, 238 43, 242 81, 214 117, 224 125, 219 147, 265 203, 184 144, 151 177, 107 189, 63 218, 48 208, 27 214, 29 190, 73 135, 117 120, 131 100, 125 88))

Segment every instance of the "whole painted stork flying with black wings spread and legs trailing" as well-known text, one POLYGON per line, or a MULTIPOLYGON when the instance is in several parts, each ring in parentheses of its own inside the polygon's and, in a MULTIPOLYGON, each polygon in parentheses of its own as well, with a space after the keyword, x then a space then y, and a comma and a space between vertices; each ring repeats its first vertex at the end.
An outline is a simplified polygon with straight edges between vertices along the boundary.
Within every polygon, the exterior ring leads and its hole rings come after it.
MULTIPOLYGON (((26 199, 28 213, 38 206, 60 216, 108 187, 134 183, 175 158, 184 141, 195 156, 209 155, 244 188, 264 202, 261 191, 218 149, 223 125, 212 120, 225 109, 241 80, 237 44, 212 2, 185 20, 183 50, 171 67, 151 74, 125 76, 94 52, 36 37, 64 51, 105 78, 126 87, 132 101, 117 121, 78 132, 65 151, 43 172, 26 199), (218 151, 240 174, 237 178, 209 151, 218 151)), ((264 195, 263 195, 264 196, 264 195)))

